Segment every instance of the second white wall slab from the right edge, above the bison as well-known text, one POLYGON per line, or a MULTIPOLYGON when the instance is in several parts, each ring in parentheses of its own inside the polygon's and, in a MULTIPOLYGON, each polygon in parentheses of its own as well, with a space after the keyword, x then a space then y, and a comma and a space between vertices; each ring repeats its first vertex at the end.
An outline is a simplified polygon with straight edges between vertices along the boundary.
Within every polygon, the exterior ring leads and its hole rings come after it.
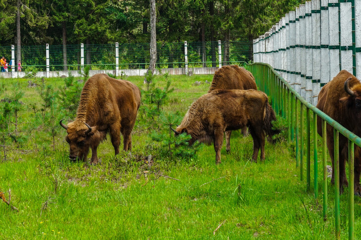
POLYGON ((353 72, 352 62, 352 3, 340 1, 341 69, 353 72))

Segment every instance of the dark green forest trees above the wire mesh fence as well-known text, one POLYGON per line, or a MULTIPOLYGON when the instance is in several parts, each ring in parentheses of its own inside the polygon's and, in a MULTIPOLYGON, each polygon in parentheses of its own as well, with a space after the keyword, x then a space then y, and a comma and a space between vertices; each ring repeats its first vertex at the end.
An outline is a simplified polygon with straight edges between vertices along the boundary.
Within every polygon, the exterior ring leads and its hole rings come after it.
MULTIPOLYGON (((157 0, 157 42, 252 41, 304 0, 157 0)), ((0 1, 0 46, 149 43, 148 0, 0 1)), ((21 56, 16 53, 16 58, 21 56)))

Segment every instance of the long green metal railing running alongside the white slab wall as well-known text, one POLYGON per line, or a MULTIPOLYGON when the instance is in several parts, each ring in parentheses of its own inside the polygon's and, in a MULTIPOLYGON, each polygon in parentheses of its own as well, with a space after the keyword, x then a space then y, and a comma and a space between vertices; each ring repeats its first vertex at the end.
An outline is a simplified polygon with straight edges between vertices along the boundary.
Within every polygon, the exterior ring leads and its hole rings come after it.
POLYGON ((326 123, 334 129, 334 180, 335 180, 335 238, 340 239, 340 169, 339 169, 339 133, 348 139, 349 149, 349 239, 355 239, 354 236, 354 144, 361 146, 361 138, 347 130, 331 117, 320 111, 311 103, 303 99, 288 83, 285 81, 269 64, 253 63, 247 65, 252 72, 259 90, 265 92, 272 100, 272 106, 275 111, 287 118, 288 141, 296 140, 296 167, 300 167, 301 181, 304 179, 304 144, 306 150, 306 189, 310 191, 310 151, 311 151, 311 121, 310 111, 313 113, 313 170, 314 170, 314 197, 318 199, 318 159, 317 159, 317 116, 322 119, 322 201, 323 201, 323 219, 327 219, 327 147, 326 147, 326 123), (300 111, 298 111, 300 108, 300 111), (306 108, 306 142, 304 143, 304 108, 306 108), (300 125, 300 127, 299 127, 300 125), (301 130, 301 131, 300 131, 301 130))

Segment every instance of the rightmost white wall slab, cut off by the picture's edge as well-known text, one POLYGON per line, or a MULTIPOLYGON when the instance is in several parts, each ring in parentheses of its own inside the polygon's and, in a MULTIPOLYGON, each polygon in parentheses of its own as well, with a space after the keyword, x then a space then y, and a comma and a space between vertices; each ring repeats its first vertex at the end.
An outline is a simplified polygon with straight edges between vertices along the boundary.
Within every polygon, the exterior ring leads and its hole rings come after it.
MULTIPOLYGON (((355 25, 361 26, 361 0, 355 0, 355 25)), ((361 29, 355 29, 356 77, 361 79, 361 29)))

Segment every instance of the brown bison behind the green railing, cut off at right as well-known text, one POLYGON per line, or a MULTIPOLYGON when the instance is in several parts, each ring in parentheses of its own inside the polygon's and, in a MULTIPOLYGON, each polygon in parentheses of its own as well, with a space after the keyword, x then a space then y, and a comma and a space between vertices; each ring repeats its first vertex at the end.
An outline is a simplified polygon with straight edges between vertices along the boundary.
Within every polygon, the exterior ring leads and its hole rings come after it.
MULTIPOLYGON (((339 122, 342 126, 361 136, 361 83, 351 73, 342 70, 333 80, 327 83, 318 95, 317 108, 339 122)), ((322 135, 322 121, 317 117, 317 132, 322 135)), ((334 184, 334 140, 333 128, 326 127, 327 147, 332 161, 332 178, 334 184)), ((346 159, 348 156, 347 138, 339 136, 340 159, 340 191, 348 186, 346 178, 346 159)), ((361 148, 355 145, 355 194, 361 195, 361 148)))

